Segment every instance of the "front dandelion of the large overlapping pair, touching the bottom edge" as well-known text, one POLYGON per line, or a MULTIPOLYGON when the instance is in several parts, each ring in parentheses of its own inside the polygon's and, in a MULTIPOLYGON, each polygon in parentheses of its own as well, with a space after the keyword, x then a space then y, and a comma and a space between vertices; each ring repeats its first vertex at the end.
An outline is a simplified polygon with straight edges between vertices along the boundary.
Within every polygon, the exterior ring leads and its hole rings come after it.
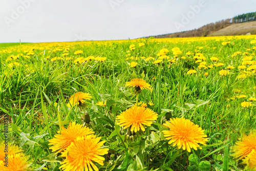
POLYGON ((61 157, 66 159, 60 163, 59 169, 62 168, 65 171, 93 171, 94 169, 98 171, 99 169, 93 161, 104 165, 105 159, 102 155, 108 154, 109 151, 109 148, 101 148, 105 141, 100 141, 100 138, 93 135, 77 137, 62 153, 61 157))

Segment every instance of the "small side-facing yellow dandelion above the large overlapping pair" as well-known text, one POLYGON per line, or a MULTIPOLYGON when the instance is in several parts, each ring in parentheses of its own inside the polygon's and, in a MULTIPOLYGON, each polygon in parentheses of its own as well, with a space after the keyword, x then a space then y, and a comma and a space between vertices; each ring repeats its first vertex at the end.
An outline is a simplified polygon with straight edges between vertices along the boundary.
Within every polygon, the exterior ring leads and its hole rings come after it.
POLYGON ((71 108, 71 106, 73 105, 84 103, 85 102, 84 99, 90 100, 91 98, 93 97, 91 96, 90 93, 78 92, 69 98, 69 103, 67 104, 67 106, 71 108))

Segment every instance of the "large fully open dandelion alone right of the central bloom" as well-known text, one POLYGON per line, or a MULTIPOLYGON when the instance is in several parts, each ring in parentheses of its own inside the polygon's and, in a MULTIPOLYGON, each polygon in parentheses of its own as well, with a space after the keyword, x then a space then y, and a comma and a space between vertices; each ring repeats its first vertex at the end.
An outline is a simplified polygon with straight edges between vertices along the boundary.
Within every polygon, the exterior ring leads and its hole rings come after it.
POLYGON ((207 135, 204 134, 204 130, 188 119, 170 118, 170 121, 166 121, 164 125, 169 128, 169 130, 163 131, 164 137, 169 140, 168 144, 178 145, 179 149, 182 147, 188 152, 191 152, 191 148, 201 149, 198 143, 206 145, 207 139, 205 137, 207 135))

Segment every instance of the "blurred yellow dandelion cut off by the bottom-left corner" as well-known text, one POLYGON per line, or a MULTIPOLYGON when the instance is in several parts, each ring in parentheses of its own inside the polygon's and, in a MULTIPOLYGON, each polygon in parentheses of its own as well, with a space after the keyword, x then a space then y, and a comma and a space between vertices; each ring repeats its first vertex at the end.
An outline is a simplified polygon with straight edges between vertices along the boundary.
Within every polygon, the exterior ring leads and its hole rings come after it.
POLYGON ((8 162, 0 160, 0 170, 1 171, 25 171, 28 169, 28 157, 23 153, 8 154, 8 162), (7 166, 8 167, 7 167, 7 166))

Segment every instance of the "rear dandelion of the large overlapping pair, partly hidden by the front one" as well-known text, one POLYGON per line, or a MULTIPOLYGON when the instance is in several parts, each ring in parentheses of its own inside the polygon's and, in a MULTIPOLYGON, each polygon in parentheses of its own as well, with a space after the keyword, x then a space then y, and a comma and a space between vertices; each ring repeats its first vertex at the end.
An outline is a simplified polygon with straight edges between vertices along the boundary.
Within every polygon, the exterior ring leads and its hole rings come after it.
POLYGON ((64 149, 66 149, 71 142, 74 142, 77 137, 87 136, 91 135, 94 132, 89 129, 89 127, 82 126, 81 124, 76 124, 76 122, 69 123, 69 126, 67 129, 65 129, 64 126, 62 126, 61 134, 57 132, 58 134, 54 135, 54 138, 49 140, 49 145, 53 145, 50 147, 53 152, 60 153, 64 149))

